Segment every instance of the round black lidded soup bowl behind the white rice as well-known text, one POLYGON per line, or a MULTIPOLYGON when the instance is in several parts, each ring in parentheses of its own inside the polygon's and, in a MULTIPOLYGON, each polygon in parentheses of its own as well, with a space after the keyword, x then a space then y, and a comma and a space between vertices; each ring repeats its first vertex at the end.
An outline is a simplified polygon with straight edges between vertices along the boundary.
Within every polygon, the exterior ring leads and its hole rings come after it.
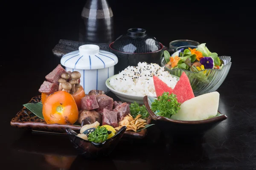
POLYGON ((115 74, 139 62, 160 64, 163 44, 146 34, 142 28, 128 29, 127 34, 119 36, 109 44, 109 51, 118 57, 115 74))

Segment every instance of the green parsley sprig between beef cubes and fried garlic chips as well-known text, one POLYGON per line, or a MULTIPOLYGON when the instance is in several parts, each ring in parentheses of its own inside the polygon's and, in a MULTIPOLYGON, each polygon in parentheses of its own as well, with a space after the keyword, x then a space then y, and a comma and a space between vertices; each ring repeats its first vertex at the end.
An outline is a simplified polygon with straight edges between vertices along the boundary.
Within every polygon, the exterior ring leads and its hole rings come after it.
POLYGON ((141 119, 145 119, 149 116, 145 105, 140 106, 137 102, 130 105, 131 116, 135 118, 138 114, 141 115, 141 119))

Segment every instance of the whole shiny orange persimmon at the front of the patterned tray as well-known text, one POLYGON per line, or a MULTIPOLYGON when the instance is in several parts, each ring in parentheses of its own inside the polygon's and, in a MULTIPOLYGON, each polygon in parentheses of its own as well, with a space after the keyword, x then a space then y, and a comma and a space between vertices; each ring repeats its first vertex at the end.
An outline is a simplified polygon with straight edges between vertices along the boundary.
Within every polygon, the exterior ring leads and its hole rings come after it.
POLYGON ((78 119, 76 101, 70 93, 56 91, 44 101, 43 116, 47 124, 74 124, 78 119))

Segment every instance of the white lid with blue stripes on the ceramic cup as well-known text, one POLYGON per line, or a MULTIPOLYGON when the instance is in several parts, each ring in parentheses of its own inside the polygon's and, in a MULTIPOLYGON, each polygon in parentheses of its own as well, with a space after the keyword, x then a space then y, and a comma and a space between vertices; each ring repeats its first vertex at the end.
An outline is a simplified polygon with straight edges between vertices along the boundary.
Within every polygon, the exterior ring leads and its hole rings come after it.
POLYGON ((61 57, 61 65, 67 68, 81 70, 95 70, 116 65, 118 59, 115 54, 99 50, 98 45, 81 45, 79 50, 61 57))

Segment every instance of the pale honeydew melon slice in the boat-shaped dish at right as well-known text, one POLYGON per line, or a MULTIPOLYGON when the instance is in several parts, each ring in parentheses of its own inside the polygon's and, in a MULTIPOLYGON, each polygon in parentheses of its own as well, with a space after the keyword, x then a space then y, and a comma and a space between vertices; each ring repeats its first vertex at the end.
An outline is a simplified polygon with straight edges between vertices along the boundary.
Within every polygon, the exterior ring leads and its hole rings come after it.
POLYGON ((212 118, 218 113, 219 97, 220 94, 214 91, 186 100, 171 119, 192 121, 212 118))

